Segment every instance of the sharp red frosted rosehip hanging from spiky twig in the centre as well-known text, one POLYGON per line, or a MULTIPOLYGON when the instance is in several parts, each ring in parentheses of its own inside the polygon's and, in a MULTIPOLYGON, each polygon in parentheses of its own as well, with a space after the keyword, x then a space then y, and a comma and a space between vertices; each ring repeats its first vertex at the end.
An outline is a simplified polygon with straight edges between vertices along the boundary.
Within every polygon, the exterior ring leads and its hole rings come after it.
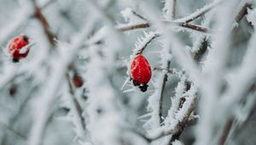
POLYGON ((130 71, 133 84, 146 91, 152 75, 148 60, 143 55, 136 55, 131 61, 130 71))

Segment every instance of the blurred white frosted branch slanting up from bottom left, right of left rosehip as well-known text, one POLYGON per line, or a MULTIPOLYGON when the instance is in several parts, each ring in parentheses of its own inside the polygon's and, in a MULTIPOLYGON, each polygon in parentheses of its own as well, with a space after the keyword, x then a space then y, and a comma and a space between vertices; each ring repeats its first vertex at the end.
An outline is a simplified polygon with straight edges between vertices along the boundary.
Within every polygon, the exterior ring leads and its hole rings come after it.
POLYGON ((93 26, 94 20, 91 20, 88 24, 84 26, 84 29, 73 38, 73 45, 67 48, 67 46, 60 46, 60 56, 59 60, 55 60, 53 63, 52 75, 49 76, 49 82, 47 86, 44 86, 44 91, 41 94, 40 99, 38 99, 35 104, 35 112, 38 113, 35 123, 32 125, 32 131, 30 132, 29 144, 38 145, 41 140, 41 136, 44 133, 44 126, 46 125, 49 115, 50 108, 53 106, 55 101, 55 96, 58 88, 61 85, 62 78, 64 78, 67 66, 71 61, 76 52, 84 44, 84 39, 87 38, 89 33, 88 30, 93 26))

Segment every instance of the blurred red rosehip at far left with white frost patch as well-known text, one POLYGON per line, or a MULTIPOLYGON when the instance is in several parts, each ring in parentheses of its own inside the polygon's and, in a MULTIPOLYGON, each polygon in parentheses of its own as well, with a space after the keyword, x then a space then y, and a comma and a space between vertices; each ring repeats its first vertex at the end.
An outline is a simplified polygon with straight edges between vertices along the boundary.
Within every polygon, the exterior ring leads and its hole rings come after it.
POLYGON ((14 38, 8 46, 9 53, 14 62, 19 62, 20 59, 26 58, 29 53, 29 49, 26 49, 25 52, 20 51, 26 45, 29 44, 29 40, 25 35, 14 38))

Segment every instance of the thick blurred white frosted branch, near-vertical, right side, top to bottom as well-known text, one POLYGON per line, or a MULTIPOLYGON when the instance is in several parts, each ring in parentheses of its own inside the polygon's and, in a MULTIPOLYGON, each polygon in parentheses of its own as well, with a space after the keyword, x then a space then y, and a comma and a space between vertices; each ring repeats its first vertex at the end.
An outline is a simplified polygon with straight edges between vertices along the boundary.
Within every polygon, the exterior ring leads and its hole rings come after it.
MULTIPOLYGON (((197 125, 195 145, 205 145, 212 142, 212 136, 216 129, 215 120, 212 114, 216 112, 215 104, 218 104, 218 92, 222 85, 222 76, 227 59, 229 58, 231 26, 237 13, 234 9, 240 1, 226 1, 216 8, 215 41, 212 43, 212 50, 209 51, 203 73, 207 76, 206 84, 201 84, 202 94, 200 113, 201 124, 197 125), (207 132, 207 133, 206 133, 207 132)), ((238 11, 238 10, 237 10, 238 11)), ((220 119, 220 118, 218 118, 220 119)))

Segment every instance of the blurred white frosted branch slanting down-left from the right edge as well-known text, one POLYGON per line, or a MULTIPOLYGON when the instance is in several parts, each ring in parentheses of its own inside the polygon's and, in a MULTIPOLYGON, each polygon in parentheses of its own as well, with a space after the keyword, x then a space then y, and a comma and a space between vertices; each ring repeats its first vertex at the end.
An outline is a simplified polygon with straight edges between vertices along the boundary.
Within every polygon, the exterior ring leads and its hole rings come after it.
POLYGON ((233 104, 239 102, 244 91, 253 84, 253 79, 256 77, 256 67, 252 65, 256 57, 255 40, 256 33, 254 32, 241 67, 233 73, 234 77, 229 79, 230 90, 219 101, 218 108, 224 109, 224 112, 219 115, 224 116, 226 113, 230 113, 234 107, 233 104))

